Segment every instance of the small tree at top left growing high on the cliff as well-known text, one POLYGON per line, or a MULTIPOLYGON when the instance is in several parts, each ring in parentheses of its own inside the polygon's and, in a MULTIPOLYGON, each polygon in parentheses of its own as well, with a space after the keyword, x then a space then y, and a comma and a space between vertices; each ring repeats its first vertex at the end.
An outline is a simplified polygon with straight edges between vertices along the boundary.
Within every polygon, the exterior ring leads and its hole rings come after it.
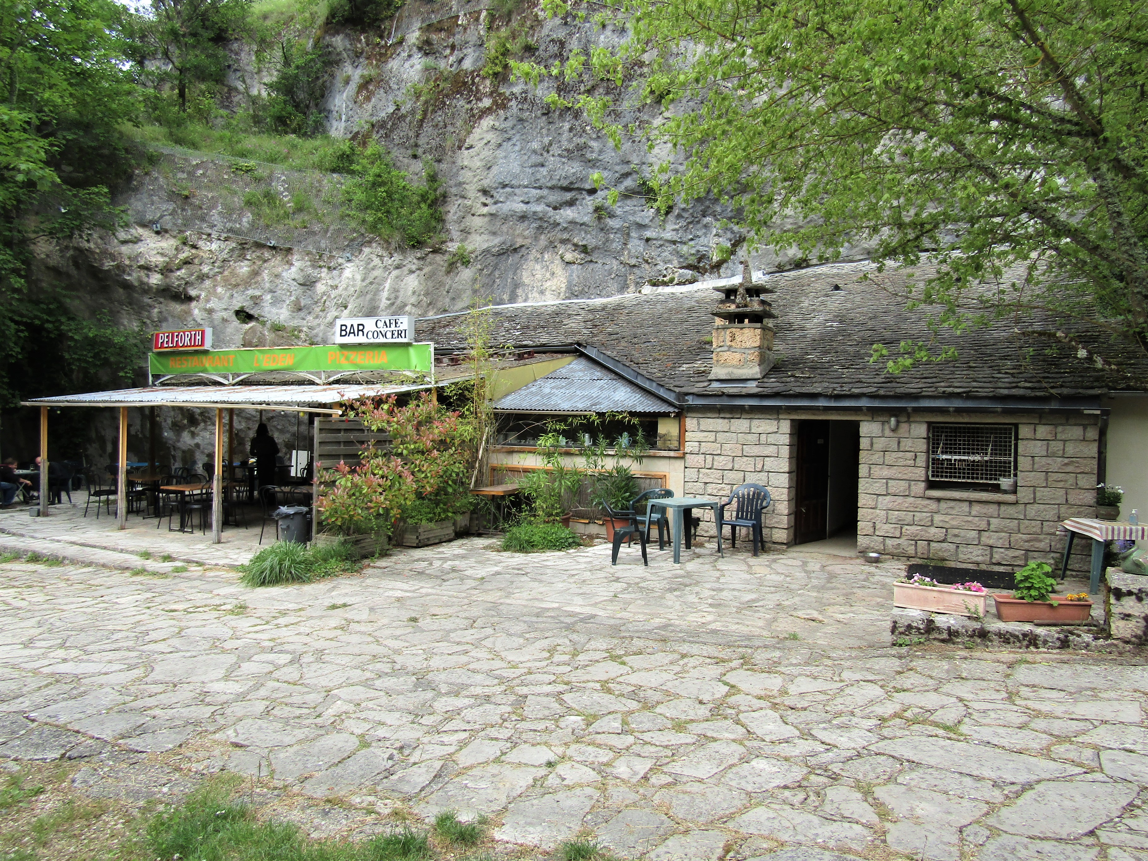
POLYGON ((150 0, 130 15, 130 54, 157 92, 173 88, 181 114, 196 88, 207 95, 223 84, 227 46, 249 28, 250 0, 150 0))

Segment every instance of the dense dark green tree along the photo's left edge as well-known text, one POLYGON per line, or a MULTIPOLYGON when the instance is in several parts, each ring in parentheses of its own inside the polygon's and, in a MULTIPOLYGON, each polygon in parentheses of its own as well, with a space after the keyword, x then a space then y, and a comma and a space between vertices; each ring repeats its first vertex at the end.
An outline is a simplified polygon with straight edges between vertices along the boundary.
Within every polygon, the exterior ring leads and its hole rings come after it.
POLYGON ((110 0, 0 0, 0 406, 130 378, 142 355, 138 333, 28 277, 38 241, 122 218, 108 186, 131 170, 118 126, 138 103, 121 15, 110 0))

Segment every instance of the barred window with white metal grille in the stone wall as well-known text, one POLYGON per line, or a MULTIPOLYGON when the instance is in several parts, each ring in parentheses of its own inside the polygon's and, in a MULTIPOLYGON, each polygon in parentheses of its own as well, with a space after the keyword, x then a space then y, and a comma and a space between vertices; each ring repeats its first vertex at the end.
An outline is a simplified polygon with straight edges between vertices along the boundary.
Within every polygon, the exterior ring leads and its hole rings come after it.
POLYGON ((930 425, 929 481, 995 484, 1016 478, 1015 425, 930 425))

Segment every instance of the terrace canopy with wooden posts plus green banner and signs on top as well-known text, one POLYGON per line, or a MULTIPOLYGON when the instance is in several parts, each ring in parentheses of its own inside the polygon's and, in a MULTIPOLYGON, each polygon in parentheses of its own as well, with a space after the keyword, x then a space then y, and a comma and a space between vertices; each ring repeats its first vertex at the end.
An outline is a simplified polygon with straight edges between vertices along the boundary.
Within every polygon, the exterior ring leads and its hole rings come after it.
MULTIPOLYGON (((212 541, 219 543, 227 494, 239 487, 239 482, 231 480, 235 465, 235 410, 295 412, 308 417, 310 424, 321 417, 339 416, 338 404, 342 401, 434 385, 434 344, 414 342, 413 317, 357 317, 335 320, 332 343, 324 346, 216 350, 211 348, 210 328, 156 332, 148 356, 146 388, 41 397, 23 405, 40 408, 41 488, 49 487, 48 410, 119 409, 115 501, 121 529, 126 528, 127 471, 132 464, 129 457, 133 453, 127 450, 127 411, 132 408, 152 411, 153 436, 146 468, 147 478, 155 479, 158 468, 155 410, 161 406, 215 410, 215 464, 203 491, 210 492, 212 541)), ((316 437, 310 434, 309 439, 316 437)), ((313 452, 308 455, 310 460, 313 452)), ((135 456, 139 458, 139 453, 135 456)), ((49 513, 49 498, 51 494, 40 494, 41 517, 49 513)))

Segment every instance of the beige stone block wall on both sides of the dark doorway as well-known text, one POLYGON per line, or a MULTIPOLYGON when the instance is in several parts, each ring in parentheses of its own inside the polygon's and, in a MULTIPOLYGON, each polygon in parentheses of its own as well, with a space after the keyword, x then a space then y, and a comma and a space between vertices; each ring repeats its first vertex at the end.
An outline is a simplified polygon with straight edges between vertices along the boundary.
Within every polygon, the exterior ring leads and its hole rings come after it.
MULTIPOLYGON (((859 421, 858 550, 968 567, 1058 563, 1070 517, 1092 517, 1096 499, 1099 416, 1061 413, 829 413, 704 408, 685 418, 687 496, 723 498, 744 482, 769 489, 766 540, 792 544, 796 525, 797 422, 859 421), (1017 426, 1017 492, 928 487, 929 424, 1017 426)), ((701 512, 701 535, 713 535, 701 512)), ((1073 548, 1072 571, 1088 569, 1089 542, 1073 548)))

